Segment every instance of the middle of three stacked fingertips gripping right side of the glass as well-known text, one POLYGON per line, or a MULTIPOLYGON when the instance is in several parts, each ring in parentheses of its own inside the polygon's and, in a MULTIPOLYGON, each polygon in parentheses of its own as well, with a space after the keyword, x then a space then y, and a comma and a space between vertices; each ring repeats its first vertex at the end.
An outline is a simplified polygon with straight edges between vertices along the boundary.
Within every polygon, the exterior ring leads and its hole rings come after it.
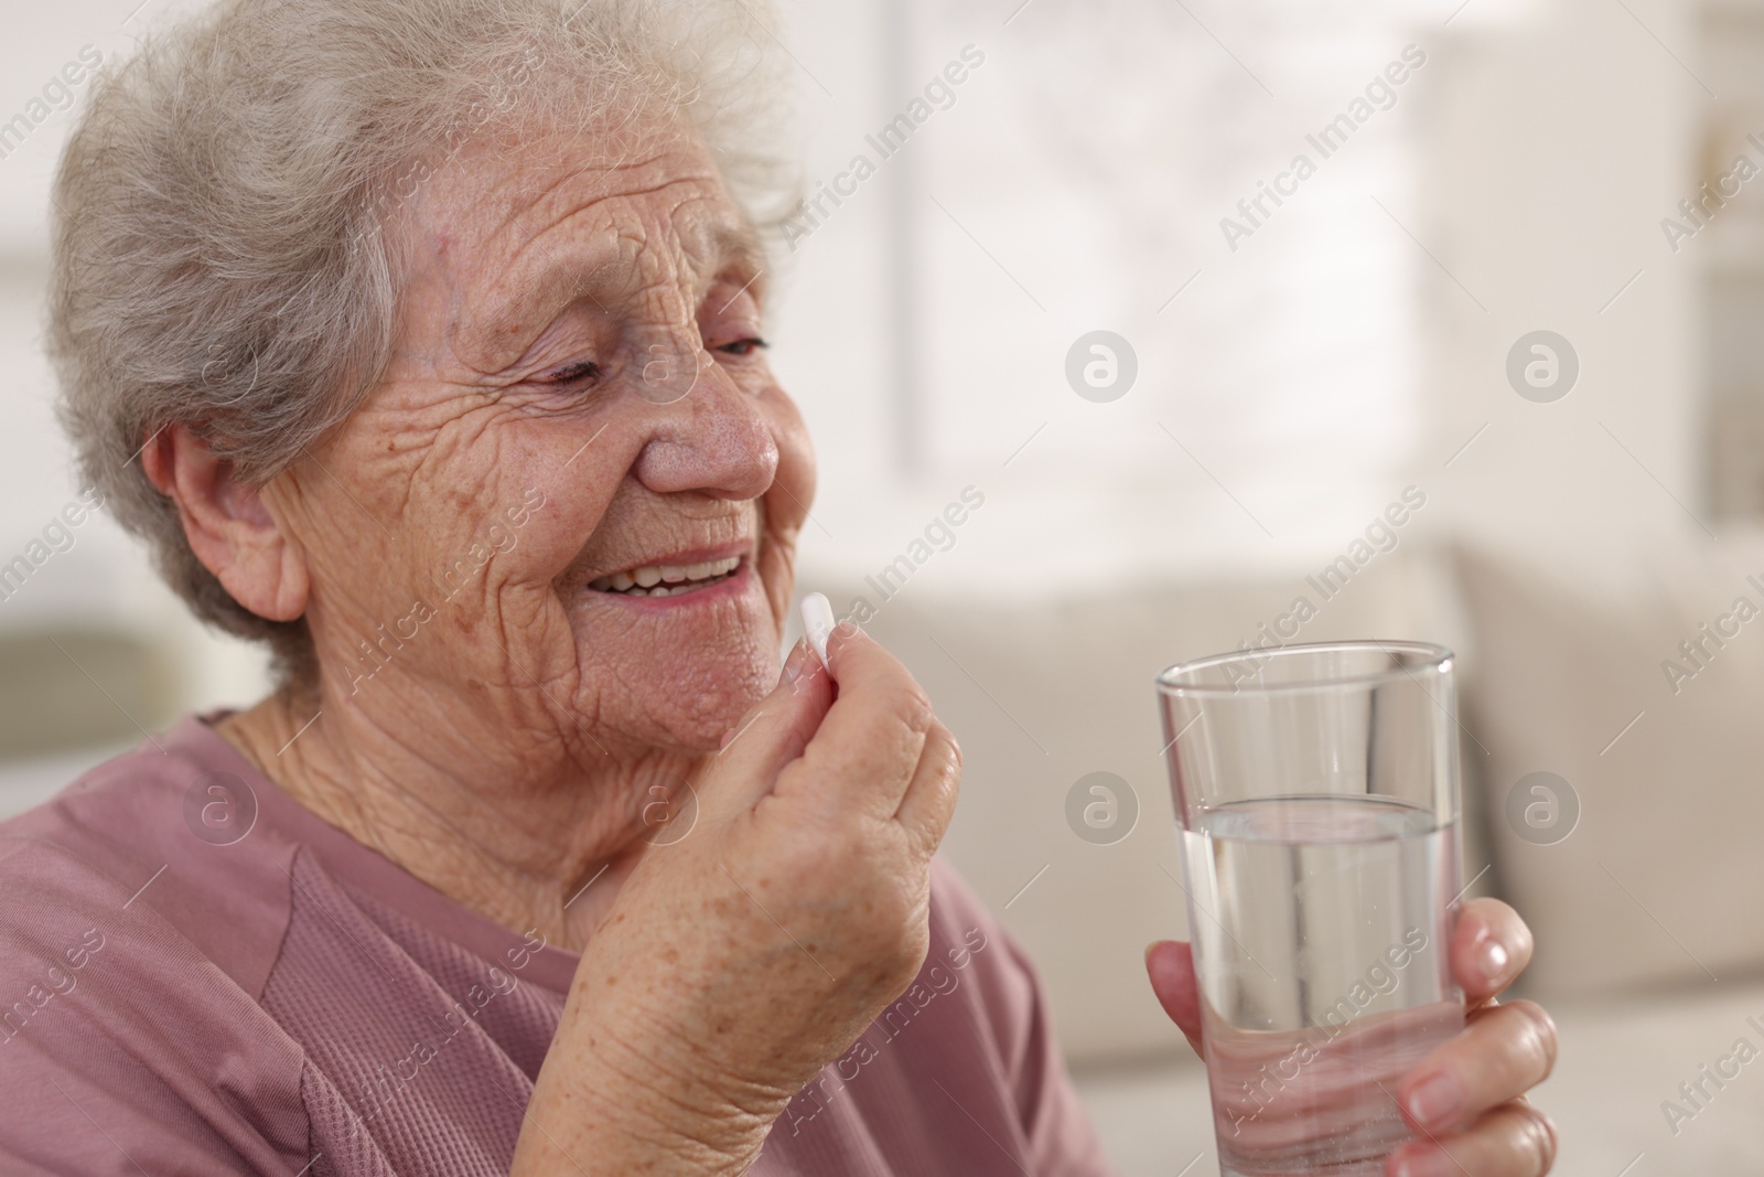
POLYGON ((1402 1076, 1397 1099, 1409 1124, 1443 1135, 1522 1096, 1556 1066, 1556 1023, 1529 1001, 1484 1009, 1402 1076))

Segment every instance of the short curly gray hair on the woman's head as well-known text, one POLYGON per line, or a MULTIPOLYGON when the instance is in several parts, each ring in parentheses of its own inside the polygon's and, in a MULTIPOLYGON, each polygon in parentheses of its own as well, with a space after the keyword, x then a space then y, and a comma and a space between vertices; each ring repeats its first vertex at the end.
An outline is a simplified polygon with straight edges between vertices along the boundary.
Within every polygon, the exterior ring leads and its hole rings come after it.
POLYGON ((81 475, 205 621, 316 669, 191 551, 136 461, 198 431, 263 485, 379 383, 395 222, 478 134, 683 116, 767 247, 799 192, 759 0, 226 0, 93 86, 55 178, 48 348, 81 475))

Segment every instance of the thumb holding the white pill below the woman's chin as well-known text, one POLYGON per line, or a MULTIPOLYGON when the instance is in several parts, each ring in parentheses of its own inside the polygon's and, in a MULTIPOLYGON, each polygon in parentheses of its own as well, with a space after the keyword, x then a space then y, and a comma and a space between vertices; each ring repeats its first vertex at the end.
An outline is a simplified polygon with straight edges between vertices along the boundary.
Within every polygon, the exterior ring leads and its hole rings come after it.
POLYGON ((833 678, 801 641, 790 649, 778 686, 736 723, 711 757, 700 783, 704 799, 750 806, 771 792, 778 773, 803 755, 833 706, 833 678))

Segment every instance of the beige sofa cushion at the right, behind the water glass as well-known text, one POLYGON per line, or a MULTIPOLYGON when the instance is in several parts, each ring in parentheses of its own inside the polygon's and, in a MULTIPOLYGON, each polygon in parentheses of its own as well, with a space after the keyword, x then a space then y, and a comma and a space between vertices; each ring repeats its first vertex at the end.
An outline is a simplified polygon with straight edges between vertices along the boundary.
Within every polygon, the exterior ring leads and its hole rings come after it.
POLYGON ((1464 716, 1491 752, 1501 889, 1536 933, 1528 985, 1708 985, 1764 967, 1750 914, 1764 896, 1764 542, 1469 549, 1461 577, 1476 648, 1464 716), (1549 828, 1561 789, 1533 773, 1572 789, 1572 831, 1549 828))

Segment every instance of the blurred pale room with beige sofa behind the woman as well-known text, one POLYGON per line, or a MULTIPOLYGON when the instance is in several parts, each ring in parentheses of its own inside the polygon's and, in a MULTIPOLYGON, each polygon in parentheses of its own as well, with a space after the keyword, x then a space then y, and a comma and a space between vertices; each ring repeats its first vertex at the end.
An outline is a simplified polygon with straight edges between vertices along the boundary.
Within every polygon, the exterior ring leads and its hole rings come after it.
MULTIPOLYGON (((189 7, 5 14, 5 813, 265 690, 71 508, 41 353, 56 79, 189 7)), ((1764 1066, 1679 1087, 1764 1046, 1764 4, 781 11, 799 586, 863 598, 963 739, 946 852, 1039 962, 1122 1172, 1217 1172, 1140 967, 1185 937, 1152 676, 1279 641, 1298 596, 1297 641, 1462 655, 1462 882, 1536 932, 1558 1172, 1764 1172, 1764 1066), (1069 821, 1097 780, 1108 821, 1069 821)))

